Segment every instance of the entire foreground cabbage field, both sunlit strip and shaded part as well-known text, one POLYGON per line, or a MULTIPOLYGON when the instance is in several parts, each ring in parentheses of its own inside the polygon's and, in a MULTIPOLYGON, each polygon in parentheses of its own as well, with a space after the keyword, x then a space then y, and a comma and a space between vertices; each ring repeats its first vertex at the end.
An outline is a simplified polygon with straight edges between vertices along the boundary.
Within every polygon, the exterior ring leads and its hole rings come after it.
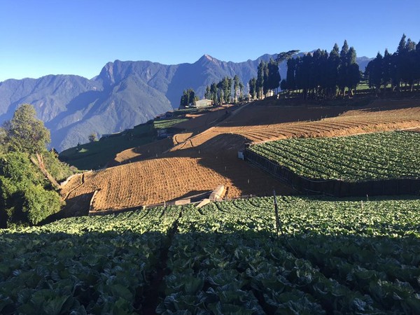
POLYGON ((420 200, 277 203, 0 231, 0 314, 418 314, 420 200))

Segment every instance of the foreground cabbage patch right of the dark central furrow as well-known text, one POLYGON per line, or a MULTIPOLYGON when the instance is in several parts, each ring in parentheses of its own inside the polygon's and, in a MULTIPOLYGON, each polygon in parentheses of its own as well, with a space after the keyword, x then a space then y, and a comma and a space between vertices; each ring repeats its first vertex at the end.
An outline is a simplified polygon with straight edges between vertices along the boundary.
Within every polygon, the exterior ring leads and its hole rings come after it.
POLYGON ((160 314, 415 314, 419 200, 253 198, 183 211, 160 314))

